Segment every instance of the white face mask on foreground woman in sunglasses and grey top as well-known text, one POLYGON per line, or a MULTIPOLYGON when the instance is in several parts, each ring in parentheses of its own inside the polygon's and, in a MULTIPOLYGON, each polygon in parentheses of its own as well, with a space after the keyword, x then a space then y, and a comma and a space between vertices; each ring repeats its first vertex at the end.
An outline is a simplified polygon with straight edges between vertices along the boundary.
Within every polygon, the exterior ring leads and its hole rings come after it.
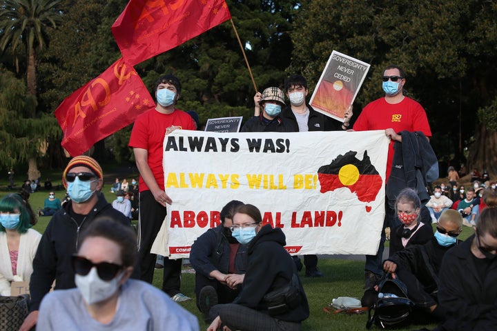
POLYGON ((104 301, 112 297, 119 288, 119 280, 122 273, 118 274, 110 281, 102 281, 97 274, 97 267, 91 268, 86 276, 76 274, 75 283, 81 296, 88 305, 104 301))

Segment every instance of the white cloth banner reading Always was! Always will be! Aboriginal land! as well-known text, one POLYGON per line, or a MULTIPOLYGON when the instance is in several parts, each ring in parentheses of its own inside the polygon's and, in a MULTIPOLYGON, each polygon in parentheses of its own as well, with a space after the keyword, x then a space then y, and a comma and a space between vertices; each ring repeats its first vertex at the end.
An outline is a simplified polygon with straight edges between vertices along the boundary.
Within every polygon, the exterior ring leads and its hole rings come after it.
POLYGON ((384 131, 176 130, 164 139, 173 204, 152 252, 188 257, 233 199, 256 205, 291 254, 375 254, 384 219, 384 131))

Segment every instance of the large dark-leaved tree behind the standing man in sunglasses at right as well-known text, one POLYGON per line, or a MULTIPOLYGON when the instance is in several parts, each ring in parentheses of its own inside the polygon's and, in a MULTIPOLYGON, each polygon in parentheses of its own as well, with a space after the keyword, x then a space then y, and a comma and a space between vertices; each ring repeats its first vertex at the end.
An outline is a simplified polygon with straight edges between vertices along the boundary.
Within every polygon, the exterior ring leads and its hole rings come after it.
POLYGON ((332 50, 371 63, 355 101, 358 114, 382 97, 384 67, 401 66, 407 94, 425 107, 438 135, 431 141, 436 154, 450 159, 461 152, 459 123, 469 140, 476 110, 496 94, 496 15, 495 1, 301 1, 287 72, 300 71, 315 86, 332 50))

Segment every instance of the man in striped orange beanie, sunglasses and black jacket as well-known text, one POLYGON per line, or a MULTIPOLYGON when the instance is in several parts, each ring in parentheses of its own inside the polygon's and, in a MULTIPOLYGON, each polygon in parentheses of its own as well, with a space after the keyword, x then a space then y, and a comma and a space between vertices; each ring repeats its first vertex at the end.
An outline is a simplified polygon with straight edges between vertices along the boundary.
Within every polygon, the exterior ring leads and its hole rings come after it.
POLYGON ((112 208, 102 194, 103 173, 95 159, 81 155, 71 159, 62 174, 62 183, 70 201, 55 212, 41 237, 33 260, 30 279, 30 314, 20 330, 30 330, 37 323, 41 299, 50 291, 75 288, 71 257, 79 248, 79 234, 100 216, 130 226, 130 220, 112 208))

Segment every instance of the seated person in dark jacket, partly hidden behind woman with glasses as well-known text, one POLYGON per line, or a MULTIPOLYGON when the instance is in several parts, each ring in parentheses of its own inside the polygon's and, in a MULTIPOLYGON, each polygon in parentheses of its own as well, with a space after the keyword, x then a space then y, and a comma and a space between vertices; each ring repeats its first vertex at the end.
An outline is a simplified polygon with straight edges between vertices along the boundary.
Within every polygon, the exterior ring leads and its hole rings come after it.
POLYGON ((195 240, 190 263, 195 269, 197 308, 209 321, 209 310, 217 303, 231 303, 240 294, 246 271, 246 245, 231 234, 233 214, 242 201, 228 202, 220 212, 221 224, 195 240))

